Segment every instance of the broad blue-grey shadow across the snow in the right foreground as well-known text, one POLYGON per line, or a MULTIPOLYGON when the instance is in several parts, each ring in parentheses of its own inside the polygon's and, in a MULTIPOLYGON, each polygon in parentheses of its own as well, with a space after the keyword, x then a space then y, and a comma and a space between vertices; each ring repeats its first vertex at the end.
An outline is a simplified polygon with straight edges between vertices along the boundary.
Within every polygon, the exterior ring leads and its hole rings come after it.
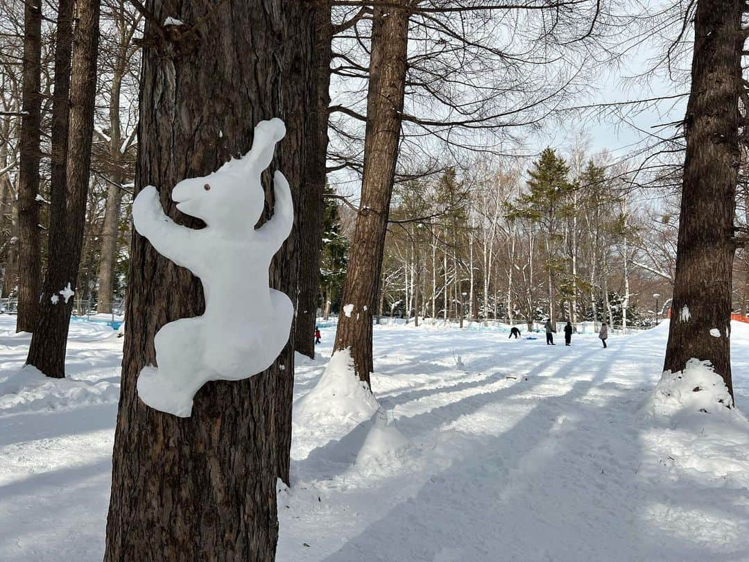
MULTIPOLYGON (((434 474, 415 497, 392 507, 324 560, 715 558, 709 546, 644 527, 649 498, 661 489, 637 477, 637 438, 620 442, 622 428, 616 423, 626 421, 626 414, 617 420, 606 408, 632 390, 620 390, 595 404, 586 401, 593 386, 590 380, 574 381, 564 395, 540 399, 506 432, 475 439, 473 455, 434 474), (601 432, 601 427, 611 431, 601 432)), ((521 384, 511 388, 529 390, 521 384)), ((671 501, 678 503, 679 498, 671 501)), ((684 498, 683 503, 688 501, 684 498)))

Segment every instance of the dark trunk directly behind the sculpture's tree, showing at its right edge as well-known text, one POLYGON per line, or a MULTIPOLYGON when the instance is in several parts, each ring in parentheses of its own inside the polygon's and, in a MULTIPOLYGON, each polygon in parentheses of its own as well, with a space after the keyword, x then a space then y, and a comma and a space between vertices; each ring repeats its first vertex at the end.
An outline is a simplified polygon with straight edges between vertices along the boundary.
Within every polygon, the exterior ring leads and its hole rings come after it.
POLYGON ((325 208, 323 192, 328 145, 333 25, 330 22, 330 5, 323 4, 310 10, 315 28, 315 48, 312 54, 312 111, 309 112, 307 168, 300 207, 299 296, 294 345, 301 354, 314 359, 325 208))

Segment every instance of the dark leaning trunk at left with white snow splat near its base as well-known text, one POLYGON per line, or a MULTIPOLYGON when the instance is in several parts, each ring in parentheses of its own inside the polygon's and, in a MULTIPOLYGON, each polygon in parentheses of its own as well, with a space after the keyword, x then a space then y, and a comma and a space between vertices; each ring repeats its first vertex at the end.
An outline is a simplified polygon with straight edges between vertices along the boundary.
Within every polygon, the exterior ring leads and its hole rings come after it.
MULTIPOLYGON (((26 358, 27 364, 54 378, 65 376, 65 350, 73 299, 64 297, 63 292, 76 291, 85 230, 91 136, 94 133, 99 8, 100 0, 85 0, 78 4, 74 63, 70 77, 70 135, 67 139, 66 178, 64 184, 56 185, 52 192, 49 259, 39 316, 26 358)), ((64 48, 64 45, 61 46, 64 48)), ((64 68, 65 62, 60 61, 60 64, 64 68)), ((57 66, 55 63, 55 67, 57 66)), ((61 106, 67 105, 65 94, 67 92, 61 91, 56 100, 61 106)), ((55 91, 55 97, 57 96, 55 91)), ((58 117, 58 127, 67 129, 67 116, 58 117)))

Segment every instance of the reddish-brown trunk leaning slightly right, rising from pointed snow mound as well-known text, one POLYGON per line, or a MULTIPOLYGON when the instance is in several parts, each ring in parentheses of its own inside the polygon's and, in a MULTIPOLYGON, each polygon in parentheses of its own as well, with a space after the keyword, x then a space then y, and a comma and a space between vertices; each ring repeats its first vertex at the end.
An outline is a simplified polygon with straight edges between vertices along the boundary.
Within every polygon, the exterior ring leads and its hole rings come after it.
MULTIPOLYGON (((405 5, 406 1, 396 0, 394 4, 405 5)), ((351 348, 357 375, 368 384, 372 372, 372 312, 401 136, 408 15, 407 10, 393 5, 374 10, 362 195, 343 291, 343 303, 353 304, 354 312, 342 315, 336 330, 335 349, 351 348)))

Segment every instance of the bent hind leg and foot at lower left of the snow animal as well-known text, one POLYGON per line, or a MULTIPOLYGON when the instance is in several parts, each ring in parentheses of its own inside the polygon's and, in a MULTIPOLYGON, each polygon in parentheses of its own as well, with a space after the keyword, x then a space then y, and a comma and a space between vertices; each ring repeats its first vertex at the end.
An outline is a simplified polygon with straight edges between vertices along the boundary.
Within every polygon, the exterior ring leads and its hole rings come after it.
POLYGON ((203 318, 182 318, 165 324, 154 337, 158 367, 144 367, 138 396, 157 410, 189 417, 192 397, 210 380, 203 364, 203 318))

